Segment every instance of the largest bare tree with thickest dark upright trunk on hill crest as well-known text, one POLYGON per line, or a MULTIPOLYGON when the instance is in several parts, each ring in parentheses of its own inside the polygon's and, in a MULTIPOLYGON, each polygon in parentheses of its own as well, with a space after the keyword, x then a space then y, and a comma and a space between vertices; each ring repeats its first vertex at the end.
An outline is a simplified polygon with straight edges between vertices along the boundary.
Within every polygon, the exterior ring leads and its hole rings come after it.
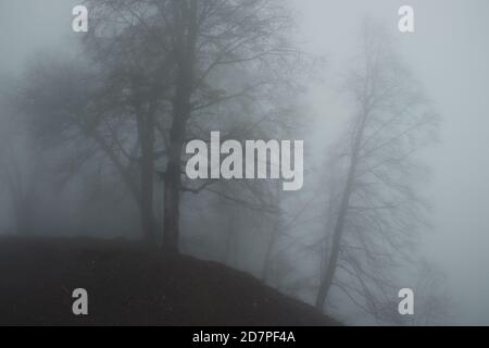
MULTIPOLYGON (((271 107, 256 100, 291 87, 289 74, 284 73, 292 70, 291 62, 299 57, 287 36, 291 17, 274 0, 104 0, 90 4, 95 23, 112 17, 116 28, 137 27, 138 35, 161 48, 162 66, 168 61, 175 64, 168 122, 160 128, 166 140, 163 244, 167 251, 177 251, 181 191, 199 192, 209 185, 184 186, 184 146, 195 136, 206 138, 202 129, 218 125, 226 113, 269 119, 271 107)), ((103 33, 97 25, 92 30, 103 33)), ((241 127, 246 133, 253 122, 242 124, 247 124, 241 127)))

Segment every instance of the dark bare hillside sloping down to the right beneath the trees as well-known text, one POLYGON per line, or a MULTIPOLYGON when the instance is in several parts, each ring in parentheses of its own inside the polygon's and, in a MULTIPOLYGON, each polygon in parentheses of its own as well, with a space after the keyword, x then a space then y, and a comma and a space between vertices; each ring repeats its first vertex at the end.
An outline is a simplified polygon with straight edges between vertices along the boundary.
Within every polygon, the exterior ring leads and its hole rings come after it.
POLYGON ((253 277, 125 241, 0 238, 0 325, 335 325, 253 277), (88 291, 87 316, 72 291, 88 291))

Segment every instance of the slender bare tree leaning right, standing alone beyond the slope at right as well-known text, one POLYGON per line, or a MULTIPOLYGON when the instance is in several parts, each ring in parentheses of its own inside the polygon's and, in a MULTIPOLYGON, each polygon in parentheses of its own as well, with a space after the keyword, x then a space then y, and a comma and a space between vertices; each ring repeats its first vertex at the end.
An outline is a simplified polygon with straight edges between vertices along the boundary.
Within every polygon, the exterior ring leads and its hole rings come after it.
POLYGON ((437 114, 372 22, 364 26, 358 66, 346 78, 352 117, 333 165, 331 233, 316 307, 333 286, 375 318, 397 294, 392 270, 412 259, 426 203, 416 191, 426 174, 416 151, 432 141, 437 114))

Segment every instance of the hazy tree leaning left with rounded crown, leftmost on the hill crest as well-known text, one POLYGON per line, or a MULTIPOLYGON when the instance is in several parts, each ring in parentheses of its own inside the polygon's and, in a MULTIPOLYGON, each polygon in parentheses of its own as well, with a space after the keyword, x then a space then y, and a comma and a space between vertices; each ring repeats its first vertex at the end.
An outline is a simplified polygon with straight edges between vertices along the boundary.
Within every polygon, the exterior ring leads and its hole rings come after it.
POLYGON ((126 103, 117 103, 121 95, 110 88, 110 75, 84 61, 38 57, 28 65, 15 96, 17 113, 35 145, 61 158, 54 173, 61 182, 87 166, 96 169, 96 181, 102 173, 121 181, 140 209, 143 239, 155 245, 155 231, 148 223, 152 209, 145 209, 142 195, 141 122, 126 103))

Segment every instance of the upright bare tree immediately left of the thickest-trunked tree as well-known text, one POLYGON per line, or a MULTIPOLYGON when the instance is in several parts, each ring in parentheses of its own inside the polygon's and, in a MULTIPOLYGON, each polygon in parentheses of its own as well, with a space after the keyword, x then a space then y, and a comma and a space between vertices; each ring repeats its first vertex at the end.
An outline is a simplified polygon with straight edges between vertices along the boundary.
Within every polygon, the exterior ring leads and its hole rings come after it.
MULTIPOLYGON (((136 146, 135 153, 126 156, 126 160, 138 167, 137 201, 141 228, 146 239, 155 245, 155 163, 167 156, 166 138, 158 141, 156 136, 167 123, 175 58, 166 54, 159 45, 168 39, 164 32, 160 30, 156 39, 153 33, 150 36, 146 34, 146 23, 121 26, 111 22, 114 18, 111 12, 103 11, 103 4, 96 9, 99 10, 96 12, 99 24, 92 26, 84 40, 84 48, 101 76, 102 87, 93 101, 103 123, 113 124, 111 136, 117 144, 122 148, 127 147, 127 142, 136 146), (125 120, 130 120, 130 124, 122 127, 123 133, 118 134, 121 125, 117 123, 127 123, 125 120)), ((124 9, 117 7, 115 11, 124 15, 124 9)), ((159 26, 153 29, 159 29, 159 26)))

